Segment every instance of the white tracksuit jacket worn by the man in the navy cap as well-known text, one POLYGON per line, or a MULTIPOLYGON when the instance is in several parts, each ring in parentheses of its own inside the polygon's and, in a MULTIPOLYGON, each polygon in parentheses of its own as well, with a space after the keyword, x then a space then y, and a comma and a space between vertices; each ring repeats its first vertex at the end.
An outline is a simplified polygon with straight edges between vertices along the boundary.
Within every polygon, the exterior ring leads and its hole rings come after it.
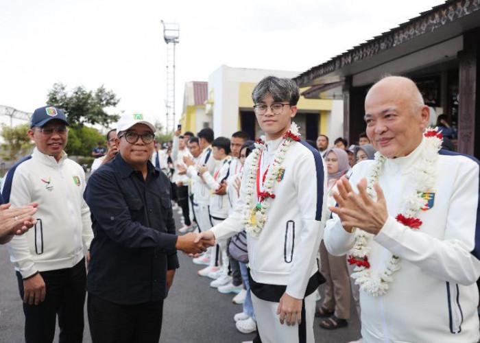
POLYGON ((64 154, 57 163, 36 148, 12 167, 2 194, 12 206, 38 202, 38 222, 8 244, 10 260, 26 278, 37 271, 72 268, 93 239, 90 209, 83 199, 85 174, 64 154))

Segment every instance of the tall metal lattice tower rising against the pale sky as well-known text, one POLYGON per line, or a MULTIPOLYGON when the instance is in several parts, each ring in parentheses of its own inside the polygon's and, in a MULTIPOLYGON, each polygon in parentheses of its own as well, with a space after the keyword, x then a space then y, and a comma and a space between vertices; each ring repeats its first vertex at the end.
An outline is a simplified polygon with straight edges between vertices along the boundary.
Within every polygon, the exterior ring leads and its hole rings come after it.
POLYGON ((163 39, 167 43, 167 96, 165 97, 167 125, 165 132, 175 130, 175 46, 180 38, 180 26, 174 23, 163 24, 163 39))

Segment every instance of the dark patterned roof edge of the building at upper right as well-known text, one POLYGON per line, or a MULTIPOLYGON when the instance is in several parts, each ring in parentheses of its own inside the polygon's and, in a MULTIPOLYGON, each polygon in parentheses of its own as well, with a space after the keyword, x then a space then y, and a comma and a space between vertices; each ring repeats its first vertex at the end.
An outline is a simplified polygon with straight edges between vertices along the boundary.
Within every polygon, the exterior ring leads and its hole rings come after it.
MULTIPOLYGON (((414 38, 418 38, 424 34, 429 34, 439 31, 439 36, 446 39, 444 31, 442 30, 446 25, 451 23, 459 23, 453 25, 450 29, 450 36, 458 34, 462 30, 478 26, 478 21, 475 19, 473 13, 480 14, 480 0, 447 0, 444 3, 433 7, 431 10, 420 13, 413 19, 406 23, 398 25, 388 32, 384 32, 379 36, 349 49, 344 54, 340 54, 331 58, 317 67, 313 67, 304 73, 298 75, 295 80, 297 84, 302 86, 310 86, 315 83, 315 80, 324 75, 334 73, 340 69, 348 68, 350 65, 363 62, 369 58, 378 56, 387 50, 394 49, 409 43, 414 38), (470 21, 461 21, 464 17, 470 16, 470 21)), ((413 49, 413 47, 411 47, 413 49)), ((337 80, 335 80, 337 81, 337 80)))

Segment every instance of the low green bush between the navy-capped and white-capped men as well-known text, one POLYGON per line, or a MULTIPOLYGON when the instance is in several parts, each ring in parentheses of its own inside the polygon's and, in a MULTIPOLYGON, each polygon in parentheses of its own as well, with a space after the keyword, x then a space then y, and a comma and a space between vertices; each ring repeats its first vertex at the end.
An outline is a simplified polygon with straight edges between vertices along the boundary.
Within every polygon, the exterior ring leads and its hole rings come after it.
POLYGON ((93 148, 99 141, 105 141, 105 137, 97 129, 74 125, 70 127, 65 152, 71 156, 91 156, 93 148))

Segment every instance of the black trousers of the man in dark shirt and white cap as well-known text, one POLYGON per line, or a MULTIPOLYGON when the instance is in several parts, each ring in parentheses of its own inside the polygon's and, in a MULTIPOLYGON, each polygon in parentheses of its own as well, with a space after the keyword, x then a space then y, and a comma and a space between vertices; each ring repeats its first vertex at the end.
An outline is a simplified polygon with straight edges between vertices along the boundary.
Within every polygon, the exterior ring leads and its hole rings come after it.
POLYGON ((122 305, 88 293, 88 324, 93 343, 158 343, 163 300, 122 305))

